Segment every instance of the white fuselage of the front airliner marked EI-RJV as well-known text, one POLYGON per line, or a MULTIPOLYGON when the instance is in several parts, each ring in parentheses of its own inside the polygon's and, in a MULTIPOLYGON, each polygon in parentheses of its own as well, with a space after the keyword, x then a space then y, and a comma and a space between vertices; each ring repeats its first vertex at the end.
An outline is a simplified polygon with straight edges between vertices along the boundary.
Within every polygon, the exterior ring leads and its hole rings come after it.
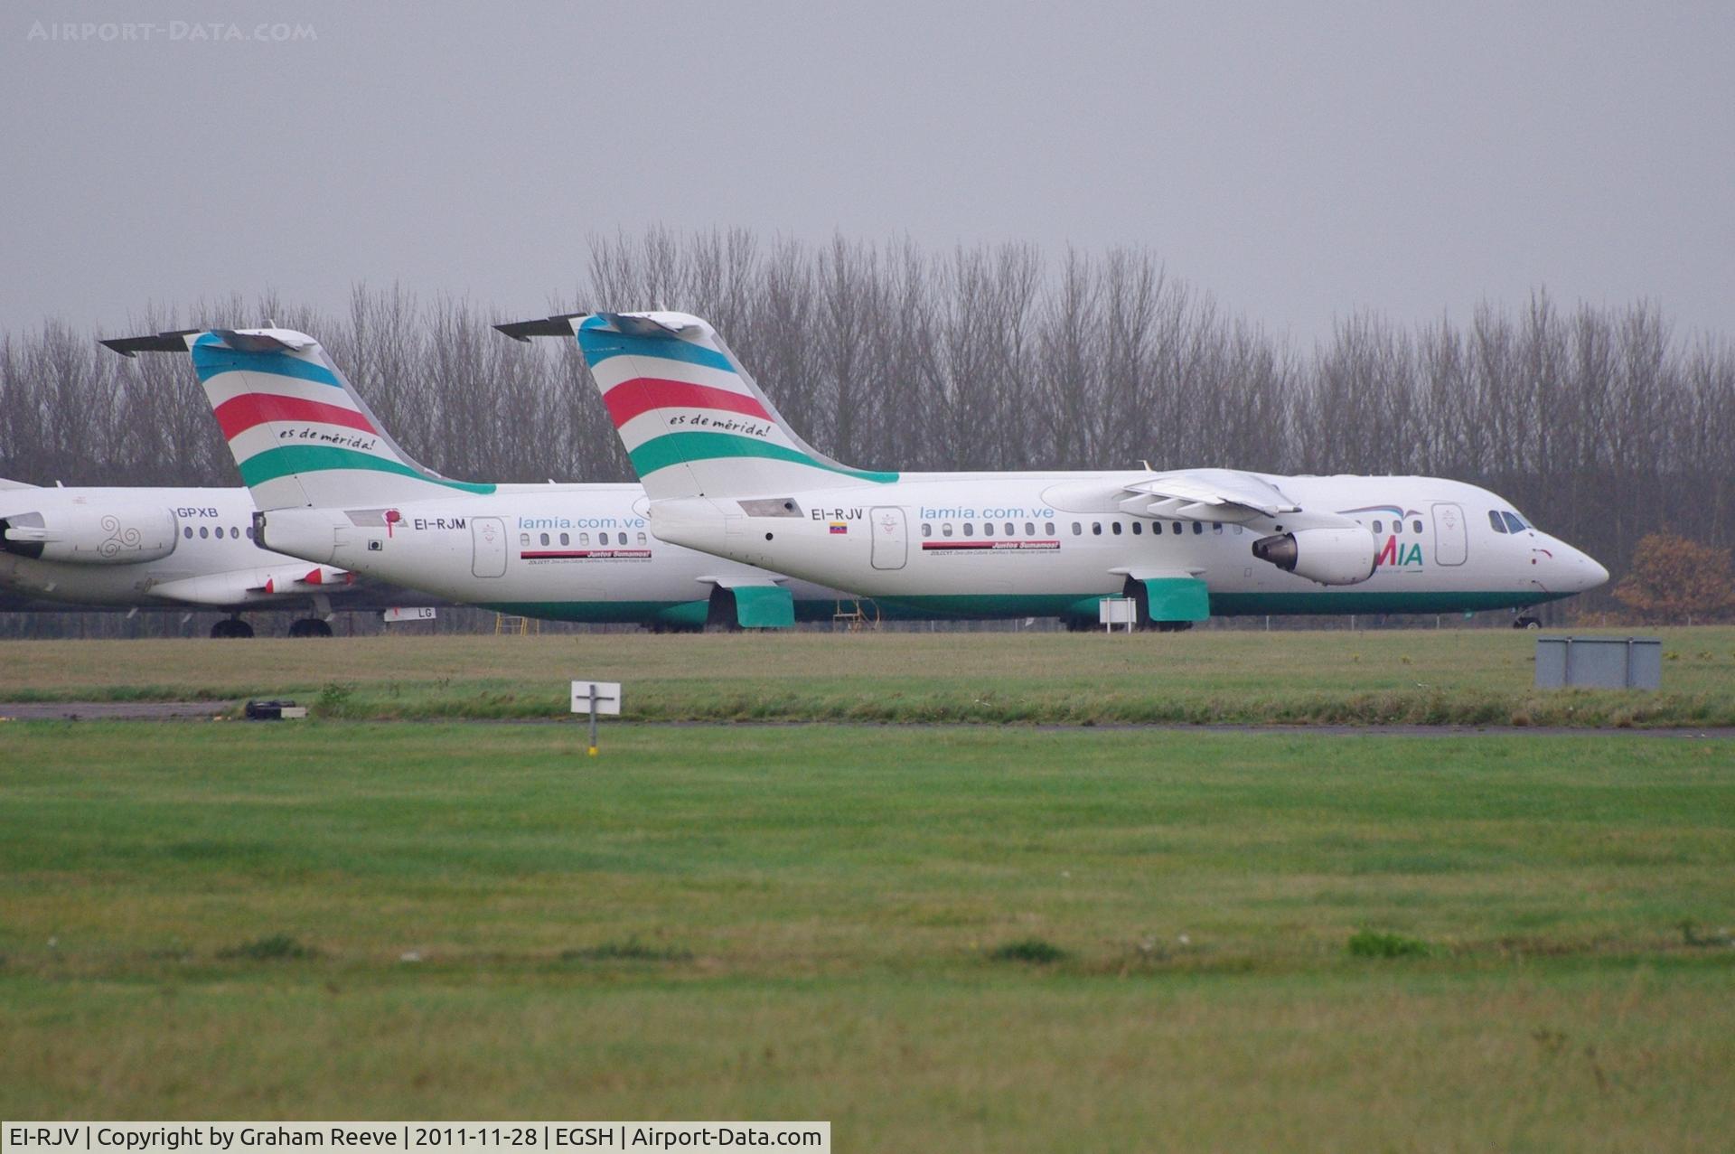
POLYGON ((1494 531, 1489 514, 1511 505, 1457 481, 1260 474, 1308 512, 1234 524, 1124 512, 1123 486, 1147 475, 904 474, 795 493, 796 512, 779 515, 746 515, 727 498, 661 500, 651 524, 691 548, 958 616, 1095 620, 1095 599, 1152 573, 1202 580, 1213 614, 1516 607, 1607 580, 1546 533, 1494 531), (1253 555, 1253 541, 1322 514, 1374 534, 1372 576, 1327 587, 1253 555))

